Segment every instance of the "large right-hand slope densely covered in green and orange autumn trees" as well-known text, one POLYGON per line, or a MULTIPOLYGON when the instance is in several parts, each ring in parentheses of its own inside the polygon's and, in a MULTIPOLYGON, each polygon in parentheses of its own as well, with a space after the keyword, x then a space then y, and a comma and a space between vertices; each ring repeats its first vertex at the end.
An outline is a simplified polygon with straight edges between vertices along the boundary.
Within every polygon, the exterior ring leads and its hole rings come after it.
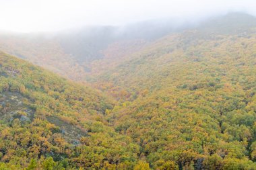
POLYGON ((153 169, 256 168, 255 27, 224 28, 170 34, 89 79, 120 99, 108 122, 153 169))

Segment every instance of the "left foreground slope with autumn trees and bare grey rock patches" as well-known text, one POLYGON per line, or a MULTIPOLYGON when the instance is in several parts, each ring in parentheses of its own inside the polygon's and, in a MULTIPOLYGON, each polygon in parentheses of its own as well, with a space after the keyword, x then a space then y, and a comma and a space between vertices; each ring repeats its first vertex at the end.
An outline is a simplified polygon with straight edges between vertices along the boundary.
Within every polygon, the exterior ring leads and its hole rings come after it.
POLYGON ((104 120, 113 101, 1 52, 2 169, 134 166, 139 146, 104 120))

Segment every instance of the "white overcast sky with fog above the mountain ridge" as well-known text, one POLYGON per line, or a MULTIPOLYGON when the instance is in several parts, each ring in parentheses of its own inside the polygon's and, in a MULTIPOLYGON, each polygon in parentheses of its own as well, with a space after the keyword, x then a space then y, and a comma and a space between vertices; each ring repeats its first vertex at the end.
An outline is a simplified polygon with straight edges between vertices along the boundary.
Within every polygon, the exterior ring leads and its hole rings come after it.
POLYGON ((255 9, 255 0, 0 0, 0 30, 49 32, 161 17, 200 19, 228 11, 255 14, 255 9))

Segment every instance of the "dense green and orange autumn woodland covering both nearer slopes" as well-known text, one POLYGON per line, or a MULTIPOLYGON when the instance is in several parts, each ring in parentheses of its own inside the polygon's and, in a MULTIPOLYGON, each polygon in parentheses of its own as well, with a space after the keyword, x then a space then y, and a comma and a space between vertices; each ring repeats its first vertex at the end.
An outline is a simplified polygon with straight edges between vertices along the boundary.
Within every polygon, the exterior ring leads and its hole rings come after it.
POLYGON ((76 83, 1 52, 0 169, 256 169, 256 27, 225 26, 109 44, 76 83))

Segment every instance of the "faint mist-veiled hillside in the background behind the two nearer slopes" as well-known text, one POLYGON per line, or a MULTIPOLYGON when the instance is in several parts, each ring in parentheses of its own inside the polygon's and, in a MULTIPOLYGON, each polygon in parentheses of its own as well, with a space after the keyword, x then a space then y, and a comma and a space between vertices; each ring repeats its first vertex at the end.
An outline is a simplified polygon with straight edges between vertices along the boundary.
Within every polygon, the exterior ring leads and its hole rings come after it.
POLYGON ((0 34, 0 49, 69 79, 83 81, 86 75, 95 70, 92 65, 95 60, 101 62, 104 58, 108 60, 115 56, 122 58, 168 34, 179 34, 186 30, 199 30, 200 36, 243 34, 255 25, 255 17, 251 15, 230 13, 199 23, 162 19, 121 28, 95 26, 58 34, 9 33, 0 34))

